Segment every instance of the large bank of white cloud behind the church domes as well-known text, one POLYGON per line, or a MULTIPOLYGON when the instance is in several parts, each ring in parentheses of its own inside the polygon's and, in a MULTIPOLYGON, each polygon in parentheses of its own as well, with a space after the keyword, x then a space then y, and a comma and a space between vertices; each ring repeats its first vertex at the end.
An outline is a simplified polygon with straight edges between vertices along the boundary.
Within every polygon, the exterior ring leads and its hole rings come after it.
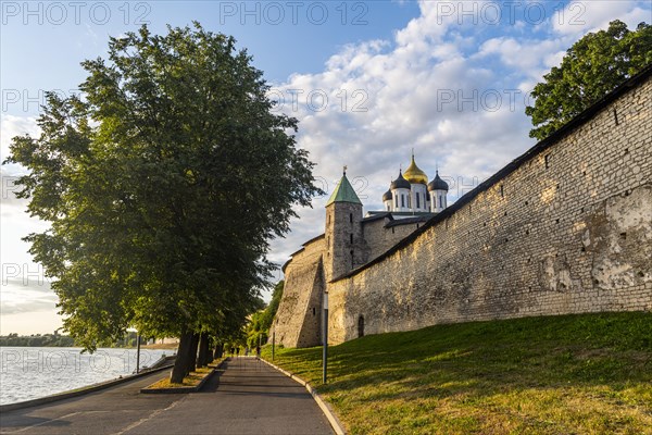
MULTIPOLYGON (((559 26, 555 15, 543 23, 518 21, 497 28, 482 20, 475 26, 459 25, 460 16, 442 13, 440 2, 419 5, 421 16, 397 30, 393 40, 349 45, 323 72, 297 74, 278 86, 328 95, 327 110, 315 113, 300 104, 289 112, 300 120, 299 145, 310 151, 317 163, 315 175, 329 182, 330 191, 343 164, 350 178, 365 177, 365 210, 380 208, 380 196, 398 175, 399 164, 409 163, 413 147, 430 177, 437 164, 441 175, 462 181, 459 191, 452 186, 453 200, 468 190, 472 179, 482 181, 500 170, 534 145, 524 114, 531 103, 526 94, 561 62, 565 50, 594 26, 615 17, 642 21, 642 12, 650 12, 640 2, 585 2, 582 27, 559 26), (349 97, 364 91, 366 111, 353 112, 349 104, 342 112, 334 104, 342 89, 349 97), (447 102, 451 92, 453 100, 447 102), (496 95, 502 97, 498 109, 491 100, 496 95)), ((272 259, 285 262, 303 241, 324 231, 324 204, 322 198, 314 209, 298 210, 301 219, 292 222, 291 234, 273 241, 272 259)))

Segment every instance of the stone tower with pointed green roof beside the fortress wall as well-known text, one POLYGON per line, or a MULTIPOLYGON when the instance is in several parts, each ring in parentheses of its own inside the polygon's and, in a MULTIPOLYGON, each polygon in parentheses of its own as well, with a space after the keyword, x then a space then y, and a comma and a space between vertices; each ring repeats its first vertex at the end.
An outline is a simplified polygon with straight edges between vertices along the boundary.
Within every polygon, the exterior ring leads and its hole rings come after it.
POLYGON ((362 202, 344 173, 326 202, 326 282, 364 263, 362 202))

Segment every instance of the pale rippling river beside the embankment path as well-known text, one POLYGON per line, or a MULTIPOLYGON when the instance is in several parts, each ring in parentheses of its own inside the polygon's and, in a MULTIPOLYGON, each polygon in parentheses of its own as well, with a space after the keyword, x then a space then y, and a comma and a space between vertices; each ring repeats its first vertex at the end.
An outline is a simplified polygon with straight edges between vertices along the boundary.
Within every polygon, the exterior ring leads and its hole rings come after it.
MULTIPOLYGON (((14 403, 131 374, 136 349, 0 347, 0 405, 14 403)), ((141 349, 140 368, 174 350, 141 349)))

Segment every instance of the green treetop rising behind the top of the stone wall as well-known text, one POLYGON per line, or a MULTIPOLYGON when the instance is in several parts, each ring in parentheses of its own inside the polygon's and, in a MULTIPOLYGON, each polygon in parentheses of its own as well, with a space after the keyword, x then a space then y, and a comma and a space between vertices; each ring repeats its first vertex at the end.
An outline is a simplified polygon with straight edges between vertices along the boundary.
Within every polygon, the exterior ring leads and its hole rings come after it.
POLYGON ((539 140, 595 103, 627 78, 652 63, 652 26, 645 23, 630 32, 618 20, 609 29, 590 33, 566 51, 560 66, 535 86, 532 107, 525 113, 539 140))

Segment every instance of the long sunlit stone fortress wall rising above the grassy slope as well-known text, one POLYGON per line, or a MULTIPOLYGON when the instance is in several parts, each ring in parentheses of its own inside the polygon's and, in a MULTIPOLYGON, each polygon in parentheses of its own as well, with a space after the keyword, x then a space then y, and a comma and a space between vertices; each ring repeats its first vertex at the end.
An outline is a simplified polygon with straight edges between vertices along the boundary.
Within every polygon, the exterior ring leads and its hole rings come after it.
POLYGON ((360 325, 652 310, 649 71, 594 112, 329 283, 329 341, 360 325))

